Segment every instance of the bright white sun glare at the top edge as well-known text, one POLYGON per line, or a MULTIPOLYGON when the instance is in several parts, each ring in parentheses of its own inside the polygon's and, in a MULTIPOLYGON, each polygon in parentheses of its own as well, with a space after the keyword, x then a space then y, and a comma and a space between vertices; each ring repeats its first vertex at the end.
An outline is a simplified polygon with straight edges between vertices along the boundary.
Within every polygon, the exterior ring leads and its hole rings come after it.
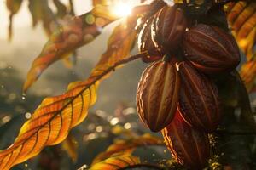
POLYGON ((113 5, 113 14, 119 16, 119 17, 125 17, 131 14, 131 10, 133 8, 134 4, 131 3, 131 1, 120 1, 113 5))

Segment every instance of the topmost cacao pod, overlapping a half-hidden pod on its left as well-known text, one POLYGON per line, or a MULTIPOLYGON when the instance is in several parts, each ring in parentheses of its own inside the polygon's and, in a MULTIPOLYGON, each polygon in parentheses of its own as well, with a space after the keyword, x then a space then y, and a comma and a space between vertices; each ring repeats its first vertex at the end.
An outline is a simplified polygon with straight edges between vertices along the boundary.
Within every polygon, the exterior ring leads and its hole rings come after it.
POLYGON ((173 52, 182 41, 187 27, 187 20, 181 8, 165 6, 154 14, 151 26, 152 40, 156 48, 163 48, 166 52, 173 52))

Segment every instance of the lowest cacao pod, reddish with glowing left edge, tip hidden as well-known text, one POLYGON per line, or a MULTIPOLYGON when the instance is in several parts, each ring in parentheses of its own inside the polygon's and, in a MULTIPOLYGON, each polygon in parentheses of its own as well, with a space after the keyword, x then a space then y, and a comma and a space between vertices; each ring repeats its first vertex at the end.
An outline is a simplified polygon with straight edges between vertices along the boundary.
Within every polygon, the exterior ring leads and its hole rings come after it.
POLYGON ((167 148, 177 161, 191 169, 205 167, 210 156, 207 133, 190 127, 178 111, 161 132, 167 148))

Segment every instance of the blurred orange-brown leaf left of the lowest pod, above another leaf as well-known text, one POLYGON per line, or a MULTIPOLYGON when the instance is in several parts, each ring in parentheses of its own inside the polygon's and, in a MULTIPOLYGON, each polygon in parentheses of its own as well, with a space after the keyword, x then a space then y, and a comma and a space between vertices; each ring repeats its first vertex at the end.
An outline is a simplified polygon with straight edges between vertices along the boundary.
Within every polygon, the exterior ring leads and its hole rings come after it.
POLYGON ((102 152, 92 162, 92 165, 107 159, 113 154, 122 152, 124 154, 131 154, 137 147, 148 146, 148 145, 165 145, 163 139, 154 137, 148 133, 143 136, 132 138, 128 140, 117 140, 114 144, 110 145, 105 152, 102 152))

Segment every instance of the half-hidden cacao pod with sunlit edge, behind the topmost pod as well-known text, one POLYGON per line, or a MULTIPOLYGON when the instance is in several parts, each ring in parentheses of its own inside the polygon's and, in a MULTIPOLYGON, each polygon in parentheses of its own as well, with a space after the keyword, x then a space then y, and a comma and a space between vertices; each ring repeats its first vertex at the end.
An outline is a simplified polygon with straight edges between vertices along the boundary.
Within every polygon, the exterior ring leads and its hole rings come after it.
POLYGON ((162 54, 154 47, 154 42, 151 38, 151 24, 153 18, 147 20, 143 25, 142 30, 138 34, 137 44, 140 53, 148 51, 148 56, 143 57, 143 62, 151 63, 162 58, 162 54))

